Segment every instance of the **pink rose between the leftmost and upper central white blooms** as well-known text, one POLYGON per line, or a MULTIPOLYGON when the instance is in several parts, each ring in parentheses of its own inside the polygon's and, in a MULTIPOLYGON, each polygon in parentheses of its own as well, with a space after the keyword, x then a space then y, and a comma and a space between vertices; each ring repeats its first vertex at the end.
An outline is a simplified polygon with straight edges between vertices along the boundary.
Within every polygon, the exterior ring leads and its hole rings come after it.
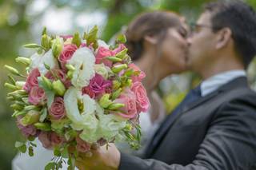
POLYGON ((58 57, 58 61, 60 61, 62 65, 62 69, 66 69, 66 62, 70 60, 77 49, 77 45, 74 44, 64 45, 64 49, 62 49, 62 53, 58 57))

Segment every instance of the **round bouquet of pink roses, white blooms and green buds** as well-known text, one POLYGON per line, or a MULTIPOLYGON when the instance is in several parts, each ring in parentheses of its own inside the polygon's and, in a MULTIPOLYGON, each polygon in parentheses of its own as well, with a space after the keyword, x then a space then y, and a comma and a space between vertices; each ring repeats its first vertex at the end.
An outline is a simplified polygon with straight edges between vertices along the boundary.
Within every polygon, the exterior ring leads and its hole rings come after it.
POLYGON ((24 45, 34 49, 30 57, 16 58, 26 71, 5 65, 12 73, 5 84, 12 89, 7 96, 14 102, 12 116, 28 140, 15 147, 33 156, 38 137, 54 150, 46 169, 62 168, 63 158, 74 169, 78 152, 90 155, 90 149, 115 141, 138 148, 138 115, 149 108, 149 100, 141 83, 145 73, 130 61, 125 41, 120 35, 116 45, 107 45, 94 26, 82 38, 78 33, 49 36, 44 29, 40 45, 24 45))

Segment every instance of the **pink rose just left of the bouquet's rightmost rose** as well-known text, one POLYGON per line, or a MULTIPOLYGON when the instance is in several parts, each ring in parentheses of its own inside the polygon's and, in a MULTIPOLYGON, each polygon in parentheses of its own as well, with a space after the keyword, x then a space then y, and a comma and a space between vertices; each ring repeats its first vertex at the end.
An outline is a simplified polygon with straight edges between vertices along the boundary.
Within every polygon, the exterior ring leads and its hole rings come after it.
POLYGON ((125 93, 122 93, 114 102, 125 105, 119 109, 121 111, 121 113, 118 113, 120 116, 129 119, 136 117, 136 96, 130 89, 126 89, 125 93))

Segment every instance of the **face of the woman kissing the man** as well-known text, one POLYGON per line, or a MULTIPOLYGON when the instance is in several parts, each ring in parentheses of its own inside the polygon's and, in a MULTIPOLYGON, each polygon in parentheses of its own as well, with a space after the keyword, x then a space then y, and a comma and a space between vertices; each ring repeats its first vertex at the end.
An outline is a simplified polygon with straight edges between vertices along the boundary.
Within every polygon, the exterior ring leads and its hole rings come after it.
POLYGON ((179 28, 169 28, 160 46, 161 57, 158 67, 166 68, 169 73, 181 73, 186 69, 186 53, 188 30, 185 23, 179 28))

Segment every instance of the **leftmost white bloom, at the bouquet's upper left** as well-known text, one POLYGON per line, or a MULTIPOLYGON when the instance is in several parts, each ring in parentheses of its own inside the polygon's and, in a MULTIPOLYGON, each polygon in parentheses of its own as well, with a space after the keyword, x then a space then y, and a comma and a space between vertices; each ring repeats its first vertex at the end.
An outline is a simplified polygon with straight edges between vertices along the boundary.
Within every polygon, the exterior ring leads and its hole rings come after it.
POLYGON ((54 58, 51 49, 46 53, 42 53, 42 54, 34 53, 30 57, 30 59, 31 59, 30 70, 34 68, 38 68, 41 74, 45 74, 48 72, 44 63, 46 65, 49 65, 50 69, 53 69, 58 65, 58 61, 56 60, 56 58, 54 58))

